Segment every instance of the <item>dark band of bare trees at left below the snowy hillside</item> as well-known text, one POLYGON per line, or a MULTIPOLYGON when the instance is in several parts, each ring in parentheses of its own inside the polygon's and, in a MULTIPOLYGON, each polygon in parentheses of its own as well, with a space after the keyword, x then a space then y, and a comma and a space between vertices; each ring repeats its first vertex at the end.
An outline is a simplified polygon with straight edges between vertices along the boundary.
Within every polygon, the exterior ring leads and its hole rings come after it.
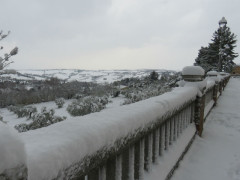
POLYGON ((90 82, 64 82, 57 78, 45 81, 7 81, 0 83, 0 107, 28 105, 54 101, 56 98, 72 99, 75 96, 104 95, 111 92, 110 85, 90 82))

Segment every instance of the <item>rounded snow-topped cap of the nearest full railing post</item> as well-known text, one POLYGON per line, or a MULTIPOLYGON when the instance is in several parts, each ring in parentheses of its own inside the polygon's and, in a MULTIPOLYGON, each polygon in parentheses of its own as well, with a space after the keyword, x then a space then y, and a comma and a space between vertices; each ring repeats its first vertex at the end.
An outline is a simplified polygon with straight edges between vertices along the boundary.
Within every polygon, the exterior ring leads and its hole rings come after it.
POLYGON ((182 77, 184 81, 202 81, 204 79, 205 71, 200 66, 186 66, 182 70, 182 77))

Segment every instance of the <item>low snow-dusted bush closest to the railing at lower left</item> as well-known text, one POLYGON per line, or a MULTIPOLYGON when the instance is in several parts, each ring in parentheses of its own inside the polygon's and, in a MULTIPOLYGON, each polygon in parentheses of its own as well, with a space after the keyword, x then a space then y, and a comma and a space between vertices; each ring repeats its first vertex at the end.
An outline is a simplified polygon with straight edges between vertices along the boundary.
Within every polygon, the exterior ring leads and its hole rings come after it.
POLYGON ((54 109, 50 109, 48 111, 46 107, 43 107, 41 113, 34 114, 34 116, 32 117, 33 122, 29 124, 18 124, 15 126, 15 128, 18 130, 18 132, 25 132, 33 129, 46 127, 51 124, 66 120, 65 116, 54 116, 54 114, 54 109))

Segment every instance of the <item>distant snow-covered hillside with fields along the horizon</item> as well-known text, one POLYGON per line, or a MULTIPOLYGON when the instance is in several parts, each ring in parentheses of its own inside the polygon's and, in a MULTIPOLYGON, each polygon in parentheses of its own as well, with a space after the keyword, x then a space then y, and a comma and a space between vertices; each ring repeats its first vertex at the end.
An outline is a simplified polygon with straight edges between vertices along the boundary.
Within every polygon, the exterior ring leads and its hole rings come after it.
MULTIPOLYGON (((19 80, 44 80, 57 77, 66 81, 82 81, 96 83, 111 83, 124 78, 148 76, 153 70, 78 70, 78 69, 48 69, 48 70, 17 70, 15 74, 2 74, 0 77, 9 77, 19 80)), ((154 70, 158 74, 172 73, 174 71, 154 70)))

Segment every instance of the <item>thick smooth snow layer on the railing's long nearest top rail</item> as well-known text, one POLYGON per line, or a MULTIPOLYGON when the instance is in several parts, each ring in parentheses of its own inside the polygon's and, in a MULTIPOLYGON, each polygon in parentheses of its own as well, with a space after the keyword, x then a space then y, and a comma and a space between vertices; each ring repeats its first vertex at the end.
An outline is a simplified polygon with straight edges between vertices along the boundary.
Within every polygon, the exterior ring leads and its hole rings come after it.
POLYGON ((196 98, 193 87, 21 133, 29 179, 51 179, 103 147, 151 126, 196 98))

